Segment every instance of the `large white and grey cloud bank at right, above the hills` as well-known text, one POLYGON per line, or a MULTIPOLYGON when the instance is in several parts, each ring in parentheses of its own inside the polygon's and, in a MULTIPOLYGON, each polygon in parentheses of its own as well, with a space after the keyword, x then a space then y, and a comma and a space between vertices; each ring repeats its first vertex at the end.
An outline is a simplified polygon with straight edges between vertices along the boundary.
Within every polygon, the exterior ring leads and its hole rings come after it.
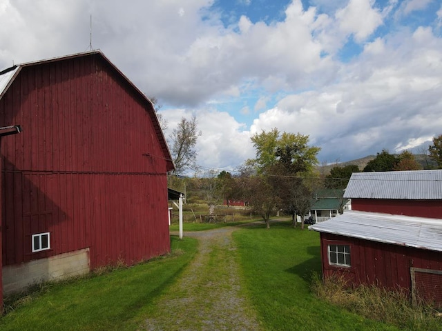
POLYGON ((399 48, 394 38, 376 39, 338 83, 285 97, 260 114, 253 130, 309 134, 328 161, 415 148, 442 127, 441 60, 441 40, 427 28, 399 48))

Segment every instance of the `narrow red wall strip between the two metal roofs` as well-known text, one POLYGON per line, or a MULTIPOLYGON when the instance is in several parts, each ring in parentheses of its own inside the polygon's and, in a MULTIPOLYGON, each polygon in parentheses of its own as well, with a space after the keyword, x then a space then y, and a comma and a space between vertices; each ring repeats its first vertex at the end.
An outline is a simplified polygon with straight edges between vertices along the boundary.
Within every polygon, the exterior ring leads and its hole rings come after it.
POLYGON ((442 219, 441 200, 352 199, 352 210, 442 219))

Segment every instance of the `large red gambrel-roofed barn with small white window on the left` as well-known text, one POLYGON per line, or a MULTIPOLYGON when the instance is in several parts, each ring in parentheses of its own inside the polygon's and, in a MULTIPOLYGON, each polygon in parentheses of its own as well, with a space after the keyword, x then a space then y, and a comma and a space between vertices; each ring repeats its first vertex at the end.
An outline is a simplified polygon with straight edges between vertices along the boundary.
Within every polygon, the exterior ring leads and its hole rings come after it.
MULTIPOLYGON (((100 51, 0 72, 3 292, 170 250, 171 154, 149 101, 100 51)), ((1 270, 0 270, 1 271, 1 270)), ((1 294, 1 292, 0 292, 1 294)))

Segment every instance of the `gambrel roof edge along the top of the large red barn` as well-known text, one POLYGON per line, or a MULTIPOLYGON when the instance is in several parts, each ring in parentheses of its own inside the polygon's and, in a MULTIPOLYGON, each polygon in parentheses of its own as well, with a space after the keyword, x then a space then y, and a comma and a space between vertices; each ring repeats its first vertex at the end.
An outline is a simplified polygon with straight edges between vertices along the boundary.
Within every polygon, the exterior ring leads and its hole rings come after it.
POLYGON ((135 94, 140 97, 142 100, 142 103, 144 103, 146 112, 148 112, 149 117, 151 118, 151 121, 153 123, 153 127, 155 129, 155 134, 158 137, 158 140, 160 141, 161 148, 163 151, 164 159, 167 161, 167 170, 171 171, 175 169, 175 165, 172 160, 171 152, 169 150, 169 146, 167 146, 166 138, 164 137, 164 133, 162 132, 162 128, 160 126, 160 121, 158 120, 157 114, 155 112, 155 108, 153 107, 153 103, 151 100, 149 100, 146 95, 144 95, 143 92, 141 92, 137 86, 135 86, 129 79, 126 77, 125 74, 123 74, 109 59, 102 53, 101 50, 92 50, 89 52, 81 52, 77 54, 70 54, 63 57, 55 57, 52 59, 44 59, 41 61, 33 61, 28 63, 22 63, 17 66, 12 66, 11 68, 8 68, 6 70, 3 70, 0 72, 0 99, 3 97, 3 95, 6 93, 8 88, 11 86, 12 82, 14 81, 15 77, 19 74, 21 68, 28 67, 28 66, 40 66, 45 63, 51 63, 51 62, 57 62, 57 61, 66 61, 68 59, 75 59, 78 57, 98 57, 99 59, 102 59, 102 61, 106 62, 113 70, 117 76, 119 76, 128 86, 135 92, 135 94))

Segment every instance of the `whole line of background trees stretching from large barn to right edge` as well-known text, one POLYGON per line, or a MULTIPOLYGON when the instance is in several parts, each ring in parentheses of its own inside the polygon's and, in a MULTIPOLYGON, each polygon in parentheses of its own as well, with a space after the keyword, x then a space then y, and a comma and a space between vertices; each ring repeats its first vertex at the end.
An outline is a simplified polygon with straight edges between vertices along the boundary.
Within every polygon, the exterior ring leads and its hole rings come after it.
MULTIPOLYGON (((154 98, 155 105, 156 99, 154 98)), ((159 108, 156 107, 155 110, 159 108)), ((162 127, 166 126, 159 116, 162 127)), ((175 163, 175 171, 169 177, 169 185, 177 185, 177 175, 192 169, 196 164, 195 150, 198 137, 198 121, 195 116, 190 120, 184 117, 169 137, 169 146, 175 163)), ((209 171, 193 185, 204 192, 204 201, 213 209, 220 201, 247 201, 251 211, 260 215, 267 228, 270 216, 275 210, 291 215, 296 226, 297 216, 304 228, 304 216, 309 212, 314 192, 327 188, 336 190, 336 197, 342 196, 353 172, 403 171, 434 168, 427 163, 421 165, 414 154, 405 150, 401 154, 390 154, 382 150, 360 170, 358 165, 334 166, 329 174, 321 176, 316 170, 317 155, 320 147, 309 146, 309 136, 300 133, 280 132, 273 128, 268 132, 254 134, 251 142, 256 157, 248 159, 238 169, 237 174, 222 171, 216 175, 209 171)), ((428 157, 434 161, 435 168, 442 168, 442 134, 434 137, 428 148, 428 157)))

